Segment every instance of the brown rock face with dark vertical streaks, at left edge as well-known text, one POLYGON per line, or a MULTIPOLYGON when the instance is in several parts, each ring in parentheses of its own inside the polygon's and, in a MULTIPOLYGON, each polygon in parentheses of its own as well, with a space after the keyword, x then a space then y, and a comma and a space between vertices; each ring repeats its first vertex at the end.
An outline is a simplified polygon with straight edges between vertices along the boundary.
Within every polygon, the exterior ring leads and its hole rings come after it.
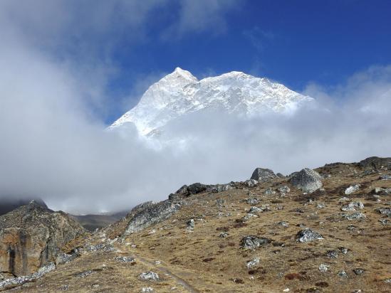
POLYGON ((0 216, 0 271, 31 275, 55 261, 60 247, 84 232, 66 213, 31 201, 0 216))

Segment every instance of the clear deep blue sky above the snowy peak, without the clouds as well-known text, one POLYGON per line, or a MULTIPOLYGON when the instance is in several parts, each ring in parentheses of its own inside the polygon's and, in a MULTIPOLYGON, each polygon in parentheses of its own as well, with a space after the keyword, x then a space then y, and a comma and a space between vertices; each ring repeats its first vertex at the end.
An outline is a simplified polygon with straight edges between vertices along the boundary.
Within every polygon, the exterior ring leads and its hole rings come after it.
POLYGON ((113 85, 129 90, 135 75, 175 66, 198 77, 244 71, 297 91, 308 82, 338 85, 371 65, 391 63, 390 11, 390 1, 239 1, 224 11, 219 31, 169 39, 162 39, 162 17, 138 46, 118 48, 122 74, 113 85))

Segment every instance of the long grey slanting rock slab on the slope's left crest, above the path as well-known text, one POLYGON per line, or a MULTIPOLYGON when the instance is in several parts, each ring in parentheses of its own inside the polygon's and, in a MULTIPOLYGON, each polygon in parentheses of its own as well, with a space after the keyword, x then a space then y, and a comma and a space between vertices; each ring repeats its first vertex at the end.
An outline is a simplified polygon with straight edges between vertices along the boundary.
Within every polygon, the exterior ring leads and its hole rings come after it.
POLYGON ((140 211, 130 217, 125 235, 139 232, 151 225, 167 220, 172 214, 179 211, 179 208, 179 203, 172 203, 172 201, 152 203, 145 208, 141 208, 140 211))

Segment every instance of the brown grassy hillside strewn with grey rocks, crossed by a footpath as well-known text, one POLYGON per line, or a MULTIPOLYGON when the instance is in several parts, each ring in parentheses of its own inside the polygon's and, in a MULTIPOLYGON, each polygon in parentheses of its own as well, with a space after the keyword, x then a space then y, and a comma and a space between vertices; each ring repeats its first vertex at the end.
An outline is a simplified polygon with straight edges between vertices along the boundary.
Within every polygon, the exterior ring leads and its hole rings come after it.
POLYGON ((391 292, 391 159, 315 171, 184 186, 71 241, 56 270, 2 288, 391 292))

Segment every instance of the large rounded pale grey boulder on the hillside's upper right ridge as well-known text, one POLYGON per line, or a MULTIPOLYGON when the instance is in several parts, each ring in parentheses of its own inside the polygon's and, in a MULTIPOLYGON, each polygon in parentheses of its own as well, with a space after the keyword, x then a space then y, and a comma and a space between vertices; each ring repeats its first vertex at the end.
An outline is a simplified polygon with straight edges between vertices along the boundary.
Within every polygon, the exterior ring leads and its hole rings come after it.
POLYGON ((295 172, 290 182, 301 191, 312 193, 322 187, 322 176, 312 169, 305 168, 300 172, 295 172))

